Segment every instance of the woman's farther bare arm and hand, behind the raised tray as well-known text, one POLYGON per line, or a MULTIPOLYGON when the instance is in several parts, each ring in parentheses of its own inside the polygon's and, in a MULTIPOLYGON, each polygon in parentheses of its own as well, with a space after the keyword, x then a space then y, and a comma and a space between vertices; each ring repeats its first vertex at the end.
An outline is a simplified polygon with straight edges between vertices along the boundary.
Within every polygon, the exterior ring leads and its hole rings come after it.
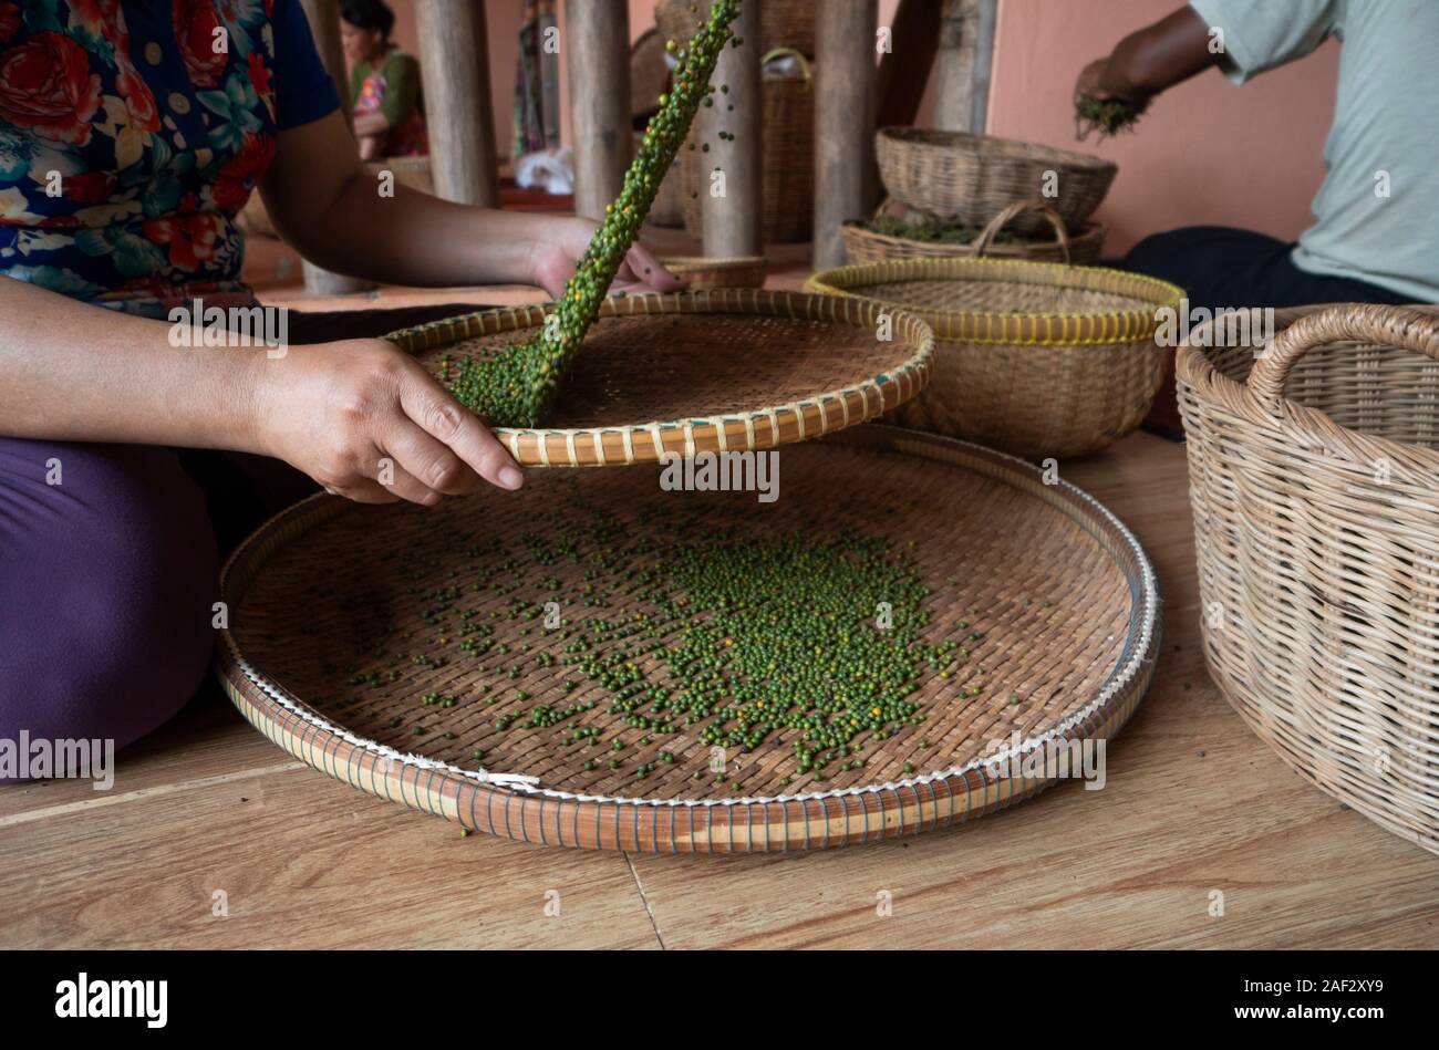
MULTIPOLYGON (((301 255, 383 283, 537 285, 558 298, 596 229, 570 216, 455 204, 399 183, 381 197, 338 112, 281 131, 260 190, 275 227, 301 255)), ((616 286, 684 285, 636 245, 616 286)))

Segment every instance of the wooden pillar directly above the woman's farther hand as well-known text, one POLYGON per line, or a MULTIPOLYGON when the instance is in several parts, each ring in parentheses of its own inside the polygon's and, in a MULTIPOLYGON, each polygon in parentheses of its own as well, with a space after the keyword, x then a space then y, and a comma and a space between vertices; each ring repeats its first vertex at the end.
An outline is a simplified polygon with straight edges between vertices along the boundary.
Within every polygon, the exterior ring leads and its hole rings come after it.
POLYGON ((566 0, 561 49, 570 70, 574 211, 599 220, 620 196, 635 151, 626 0, 566 0))

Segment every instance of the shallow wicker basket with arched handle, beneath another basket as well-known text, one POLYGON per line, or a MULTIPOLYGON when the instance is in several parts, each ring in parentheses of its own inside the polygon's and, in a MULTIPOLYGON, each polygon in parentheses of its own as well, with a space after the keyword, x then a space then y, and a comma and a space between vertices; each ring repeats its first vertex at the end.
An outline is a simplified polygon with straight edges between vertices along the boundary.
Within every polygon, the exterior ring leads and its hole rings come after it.
MULTIPOLYGON (((886 198, 875 211, 879 219, 892 204, 886 198)), ((1104 250, 1105 230, 1098 223, 1085 224, 1084 230, 1071 234, 1065 229, 1059 214, 1043 201, 1016 201, 994 216, 989 224, 980 230, 974 240, 958 243, 938 243, 932 240, 915 240, 899 237, 892 233, 878 233, 866 229, 865 223, 845 223, 839 229, 845 239, 845 255, 852 263, 884 262, 886 259, 1029 259, 1033 262, 1061 262, 1089 265, 1099 259, 1104 250), (1053 240, 1019 240, 1012 243, 994 243, 996 236, 1020 213, 1036 213, 1042 216, 1053 229, 1053 240)))

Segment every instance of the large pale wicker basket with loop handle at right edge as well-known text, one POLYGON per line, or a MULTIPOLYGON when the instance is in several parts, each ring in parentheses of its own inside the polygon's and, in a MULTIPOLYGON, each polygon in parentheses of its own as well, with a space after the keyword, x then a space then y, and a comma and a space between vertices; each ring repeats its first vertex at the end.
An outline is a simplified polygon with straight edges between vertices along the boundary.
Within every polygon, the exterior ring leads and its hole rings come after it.
POLYGON ((1302 777, 1439 853, 1439 316, 1262 324, 1179 350, 1210 673, 1302 777))

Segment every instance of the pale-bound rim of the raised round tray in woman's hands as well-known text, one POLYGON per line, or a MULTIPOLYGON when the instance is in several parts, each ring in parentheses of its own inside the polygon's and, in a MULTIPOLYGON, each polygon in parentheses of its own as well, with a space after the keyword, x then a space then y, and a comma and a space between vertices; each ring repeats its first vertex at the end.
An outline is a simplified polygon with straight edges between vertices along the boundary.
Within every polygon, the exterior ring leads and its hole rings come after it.
MULTIPOLYGON (((850 301, 859 301, 850 296, 850 301)), ((863 301, 859 301, 863 302, 863 301)), ((649 420, 603 427, 492 427, 491 432, 509 449, 511 456, 525 466, 622 466, 629 463, 659 462, 666 452, 686 457, 696 450, 741 452, 745 449, 768 449, 787 444, 781 439, 786 423, 797 424, 799 437, 807 440, 826 433, 843 430, 855 423, 875 419, 882 413, 909 401, 930 381, 934 358, 934 331, 912 311, 894 309, 878 303, 866 303, 858 319, 840 316, 839 296, 810 295, 760 288, 714 288, 672 295, 625 295, 610 296, 600 306, 600 319, 623 316, 650 316, 672 314, 725 314, 737 316, 787 316, 799 321, 829 321, 852 328, 871 325, 879 314, 888 314, 894 322, 896 338, 907 339, 914 352, 896 368, 865 378, 853 385, 814 391, 797 401, 763 406, 741 413, 718 416, 696 416, 691 419, 649 420), (886 404, 886 398, 892 404, 886 404), (875 407, 871 406, 875 403, 875 407), (839 406, 840 421, 830 423, 830 407, 839 406), (856 410, 858 406, 858 410, 856 410), (807 410, 812 410, 806 414, 807 410), (817 419, 817 429, 810 430, 817 419), (761 443, 755 424, 768 429, 768 442, 761 443), (730 424, 744 427, 744 436, 731 436, 730 424), (682 443, 671 449, 663 436, 676 433, 682 443), (620 434, 625 439, 625 455, 610 457, 604 453, 604 434, 620 434), (635 440, 642 436, 646 440, 635 440), (551 439, 557 439, 564 452, 557 457, 551 453, 551 439), (596 452, 597 462, 584 462, 580 444, 596 452)), ((412 328, 401 328, 384 338, 410 354, 436 350, 459 339, 498 335, 528 328, 537 328, 555 309, 554 302, 525 306, 502 306, 498 309, 459 314, 412 328), (459 331, 459 329, 463 331, 459 331)))

